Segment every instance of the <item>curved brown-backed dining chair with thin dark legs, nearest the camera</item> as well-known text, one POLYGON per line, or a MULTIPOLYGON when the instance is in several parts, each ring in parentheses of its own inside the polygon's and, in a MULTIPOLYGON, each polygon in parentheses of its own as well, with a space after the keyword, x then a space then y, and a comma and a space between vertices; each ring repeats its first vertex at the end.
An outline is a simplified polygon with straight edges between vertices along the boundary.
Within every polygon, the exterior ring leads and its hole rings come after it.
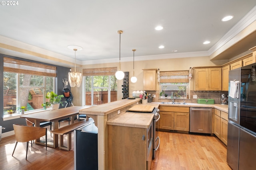
POLYGON ((45 147, 47 150, 47 129, 44 127, 34 127, 34 126, 27 126, 27 125, 18 125, 13 124, 14 134, 16 138, 16 144, 14 147, 14 150, 12 152, 12 156, 14 154, 14 151, 16 149, 18 142, 26 142, 26 160, 28 155, 28 142, 38 139, 45 135, 45 147))

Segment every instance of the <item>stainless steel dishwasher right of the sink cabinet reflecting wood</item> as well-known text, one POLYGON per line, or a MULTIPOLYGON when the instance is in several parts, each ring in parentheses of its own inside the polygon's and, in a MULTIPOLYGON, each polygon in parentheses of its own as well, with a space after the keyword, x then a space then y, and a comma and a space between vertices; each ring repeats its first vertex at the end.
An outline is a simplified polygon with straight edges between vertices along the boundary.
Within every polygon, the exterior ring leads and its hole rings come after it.
POLYGON ((212 133, 212 108, 190 107, 190 132, 212 133))

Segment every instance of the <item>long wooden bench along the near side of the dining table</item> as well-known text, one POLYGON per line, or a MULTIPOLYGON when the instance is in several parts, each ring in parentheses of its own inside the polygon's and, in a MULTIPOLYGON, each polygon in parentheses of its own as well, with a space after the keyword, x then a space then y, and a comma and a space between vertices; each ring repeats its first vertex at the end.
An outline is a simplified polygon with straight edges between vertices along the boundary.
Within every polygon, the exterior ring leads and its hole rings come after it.
POLYGON ((86 120, 82 120, 82 121, 78 121, 76 123, 61 127, 59 129, 55 129, 53 131, 51 131, 51 133, 56 134, 56 135, 60 135, 59 139, 59 147, 60 149, 65 149, 65 150, 70 150, 71 149, 71 133, 74 132, 74 130, 87 125, 89 123, 93 123, 94 120, 92 118, 89 118, 87 121, 86 120), (64 135, 68 135, 68 143, 67 146, 64 146, 63 143, 63 136, 64 135))

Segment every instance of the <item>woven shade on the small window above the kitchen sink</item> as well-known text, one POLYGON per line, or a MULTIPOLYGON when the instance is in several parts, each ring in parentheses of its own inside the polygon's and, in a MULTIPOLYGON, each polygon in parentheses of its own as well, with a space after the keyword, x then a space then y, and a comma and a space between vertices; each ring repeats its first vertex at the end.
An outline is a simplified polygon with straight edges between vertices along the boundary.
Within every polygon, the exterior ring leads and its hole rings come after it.
POLYGON ((188 83, 189 71, 160 71, 160 83, 188 83))

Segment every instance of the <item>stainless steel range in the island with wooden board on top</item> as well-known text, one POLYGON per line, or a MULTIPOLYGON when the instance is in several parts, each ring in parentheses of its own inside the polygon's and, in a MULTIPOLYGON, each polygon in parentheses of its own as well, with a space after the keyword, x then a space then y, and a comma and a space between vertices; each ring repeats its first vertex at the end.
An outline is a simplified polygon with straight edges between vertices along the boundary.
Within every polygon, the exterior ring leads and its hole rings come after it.
MULTIPOLYGON (((126 112, 132 112, 132 113, 146 113, 146 114, 154 114, 153 117, 153 159, 156 157, 156 150, 159 149, 160 145, 160 138, 158 136, 158 127, 159 127, 159 119, 160 119, 160 114, 159 114, 159 109, 154 106, 146 106, 146 108, 140 108, 141 105, 136 105, 134 107, 131 107, 128 109, 126 112)), ((143 106, 142 106, 143 107, 143 106)))

